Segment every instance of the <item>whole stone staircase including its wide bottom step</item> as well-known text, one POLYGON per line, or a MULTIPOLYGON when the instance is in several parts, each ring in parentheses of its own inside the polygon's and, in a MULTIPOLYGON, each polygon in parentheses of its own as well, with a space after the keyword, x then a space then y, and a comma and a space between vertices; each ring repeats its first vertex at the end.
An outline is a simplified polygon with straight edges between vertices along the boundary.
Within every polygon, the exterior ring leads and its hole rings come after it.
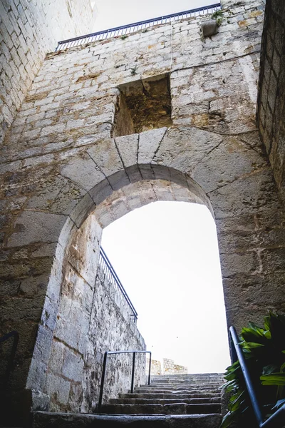
POLYGON ((103 404, 100 414, 35 412, 33 428, 218 428, 222 374, 153 376, 133 394, 103 404))

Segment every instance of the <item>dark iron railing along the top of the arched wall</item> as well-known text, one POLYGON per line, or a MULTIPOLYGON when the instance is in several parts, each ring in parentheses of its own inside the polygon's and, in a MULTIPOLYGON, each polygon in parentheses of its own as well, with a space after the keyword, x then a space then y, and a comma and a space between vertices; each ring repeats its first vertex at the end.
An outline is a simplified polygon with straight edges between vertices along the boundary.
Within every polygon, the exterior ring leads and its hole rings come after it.
POLYGON ((114 27, 113 29, 97 31, 97 33, 86 34, 85 36, 73 37, 73 39, 58 41, 56 51, 63 51, 63 49, 73 48, 74 46, 81 46, 84 44, 92 43, 93 41, 100 41, 110 39, 111 37, 126 36, 135 31, 146 30, 150 26, 158 24, 167 24, 167 22, 176 21, 178 19, 192 18, 193 16, 213 14, 215 11, 221 9, 221 4, 211 4, 210 6, 202 6, 197 9, 190 9, 189 11, 177 12, 165 16, 158 16, 157 18, 146 19, 145 21, 134 22, 123 26, 114 27))

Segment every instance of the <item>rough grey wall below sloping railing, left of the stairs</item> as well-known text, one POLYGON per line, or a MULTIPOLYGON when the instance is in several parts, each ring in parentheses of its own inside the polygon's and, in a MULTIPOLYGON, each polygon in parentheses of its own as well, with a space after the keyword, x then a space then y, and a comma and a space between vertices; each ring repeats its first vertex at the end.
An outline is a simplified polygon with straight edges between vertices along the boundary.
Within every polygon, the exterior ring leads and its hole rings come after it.
MULTIPOLYGON (((98 270, 90 322, 90 344, 83 383, 83 411, 92 412, 98 402, 103 355, 107 351, 145 350, 145 342, 130 316, 128 305, 114 286, 98 270), (90 382, 90 379, 91 382, 90 382)), ((108 357, 103 402, 130 391, 133 354, 108 357)), ((135 356, 135 387, 145 384, 145 355, 135 356)))

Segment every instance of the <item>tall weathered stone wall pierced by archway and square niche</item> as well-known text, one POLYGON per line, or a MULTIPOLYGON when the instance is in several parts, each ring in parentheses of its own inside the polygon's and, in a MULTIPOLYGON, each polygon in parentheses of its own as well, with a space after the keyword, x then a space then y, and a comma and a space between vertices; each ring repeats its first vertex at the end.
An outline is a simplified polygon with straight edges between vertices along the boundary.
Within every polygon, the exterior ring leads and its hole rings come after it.
POLYGON ((1 156, 14 402, 25 391, 27 407, 92 411, 101 231, 147 203, 209 208, 229 325, 285 310, 284 214, 255 122, 263 11, 224 1, 210 38, 195 17, 46 56, 1 156))

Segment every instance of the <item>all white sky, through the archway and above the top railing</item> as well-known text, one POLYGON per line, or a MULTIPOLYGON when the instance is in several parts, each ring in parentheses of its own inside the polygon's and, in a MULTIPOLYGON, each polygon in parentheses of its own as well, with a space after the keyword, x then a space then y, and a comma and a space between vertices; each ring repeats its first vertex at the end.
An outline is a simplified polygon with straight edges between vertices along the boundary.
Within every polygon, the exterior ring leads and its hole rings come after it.
MULTIPOLYGON (((94 31, 214 4, 215 0, 96 0, 94 31)), ((217 234, 209 210, 157 202, 103 231, 103 248, 139 314, 153 357, 188 372, 229 365, 217 234)))

